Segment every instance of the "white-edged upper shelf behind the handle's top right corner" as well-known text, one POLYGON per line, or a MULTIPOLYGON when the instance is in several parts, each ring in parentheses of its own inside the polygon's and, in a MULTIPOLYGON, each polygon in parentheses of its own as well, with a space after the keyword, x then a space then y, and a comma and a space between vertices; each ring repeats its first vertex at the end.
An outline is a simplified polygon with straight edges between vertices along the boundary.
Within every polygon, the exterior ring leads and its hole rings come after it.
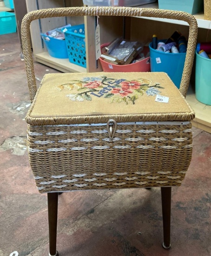
MULTIPOLYGON (((140 8, 155 8, 158 9, 158 3, 152 3, 148 5, 142 5, 138 6, 140 8)), ((211 28, 211 20, 204 20, 204 13, 197 13, 193 15, 197 19, 198 27, 200 28, 211 28)), ((168 22, 168 23, 173 23, 173 24, 179 24, 179 25, 188 25, 187 22, 183 20, 170 20, 170 19, 162 19, 162 18, 149 18, 149 17, 137 17, 141 19, 146 19, 146 20, 157 20, 157 21, 163 21, 163 22, 168 22)))

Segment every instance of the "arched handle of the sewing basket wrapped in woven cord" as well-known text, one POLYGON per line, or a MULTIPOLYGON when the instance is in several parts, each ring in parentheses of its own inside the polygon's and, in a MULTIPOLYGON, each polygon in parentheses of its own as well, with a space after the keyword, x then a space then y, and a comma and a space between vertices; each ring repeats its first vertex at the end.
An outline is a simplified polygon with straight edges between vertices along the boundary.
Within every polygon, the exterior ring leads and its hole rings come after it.
POLYGON ((42 9, 27 13, 22 20, 21 24, 21 37, 23 45, 23 54, 25 60, 27 81, 29 87, 30 99, 33 98, 37 92, 33 58, 30 43, 30 23, 33 20, 51 18, 51 17, 66 17, 66 16, 137 16, 137 17, 154 17, 154 18, 167 18, 172 20, 184 20, 189 23, 189 38, 187 53, 185 58, 185 66, 183 70, 182 80, 180 83, 180 92, 186 96, 189 86, 191 69, 195 54, 198 26, 196 19, 189 13, 160 10, 151 8, 134 8, 134 7, 66 7, 66 8, 53 8, 42 9))

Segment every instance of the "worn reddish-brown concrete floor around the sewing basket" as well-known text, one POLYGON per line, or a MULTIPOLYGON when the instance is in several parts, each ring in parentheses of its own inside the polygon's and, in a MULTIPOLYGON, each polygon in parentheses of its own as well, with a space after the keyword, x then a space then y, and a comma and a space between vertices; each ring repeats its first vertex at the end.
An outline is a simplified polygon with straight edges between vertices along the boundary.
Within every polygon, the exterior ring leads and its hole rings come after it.
MULTIPOLYGON (((48 256, 46 194, 26 152, 29 95, 17 34, 0 36, 0 256, 48 256)), ((58 72, 35 63, 43 74, 58 72)), ((160 189, 59 195, 59 256, 210 256, 211 134, 193 129, 193 158, 172 189, 171 249, 163 242, 160 189)))

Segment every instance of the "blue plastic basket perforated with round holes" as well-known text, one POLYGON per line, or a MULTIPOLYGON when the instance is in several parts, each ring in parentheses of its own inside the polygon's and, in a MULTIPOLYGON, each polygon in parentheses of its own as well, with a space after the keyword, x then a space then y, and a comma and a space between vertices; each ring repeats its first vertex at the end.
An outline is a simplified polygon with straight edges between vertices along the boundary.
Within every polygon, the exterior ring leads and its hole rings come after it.
POLYGON ((69 61, 86 67, 86 44, 84 24, 68 28, 65 32, 69 61))

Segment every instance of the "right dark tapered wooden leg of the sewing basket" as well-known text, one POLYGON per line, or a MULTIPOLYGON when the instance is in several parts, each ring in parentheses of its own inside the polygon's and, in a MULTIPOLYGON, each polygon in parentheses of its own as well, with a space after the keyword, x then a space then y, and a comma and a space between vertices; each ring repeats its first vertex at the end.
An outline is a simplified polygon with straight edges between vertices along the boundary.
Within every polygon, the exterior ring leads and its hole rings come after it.
POLYGON ((161 188, 164 243, 163 248, 171 247, 171 187, 161 188))

